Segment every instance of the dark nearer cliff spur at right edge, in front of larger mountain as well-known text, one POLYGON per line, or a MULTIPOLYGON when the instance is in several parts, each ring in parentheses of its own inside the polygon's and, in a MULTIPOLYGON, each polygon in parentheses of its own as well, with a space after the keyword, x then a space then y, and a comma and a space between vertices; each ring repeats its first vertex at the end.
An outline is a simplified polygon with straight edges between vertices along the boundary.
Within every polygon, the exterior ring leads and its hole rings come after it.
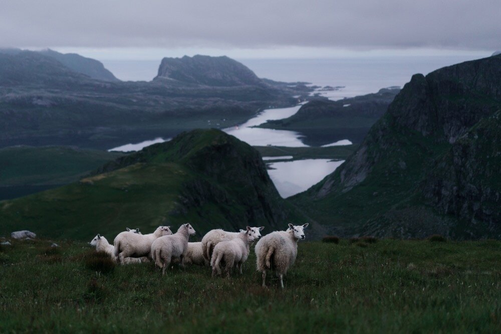
POLYGON ((459 138, 426 176, 422 192, 443 214, 501 224, 501 111, 459 138))

